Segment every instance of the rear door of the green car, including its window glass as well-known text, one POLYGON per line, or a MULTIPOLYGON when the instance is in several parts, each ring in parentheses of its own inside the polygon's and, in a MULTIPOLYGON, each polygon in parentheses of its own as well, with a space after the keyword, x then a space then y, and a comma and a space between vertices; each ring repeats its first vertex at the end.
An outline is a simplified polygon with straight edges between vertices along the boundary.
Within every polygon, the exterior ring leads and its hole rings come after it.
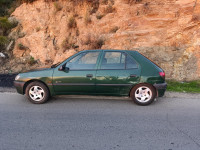
POLYGON ((104 51, 96 73, 96 93, 128 95, 139 81, 140 67, 123 51, 104 51))

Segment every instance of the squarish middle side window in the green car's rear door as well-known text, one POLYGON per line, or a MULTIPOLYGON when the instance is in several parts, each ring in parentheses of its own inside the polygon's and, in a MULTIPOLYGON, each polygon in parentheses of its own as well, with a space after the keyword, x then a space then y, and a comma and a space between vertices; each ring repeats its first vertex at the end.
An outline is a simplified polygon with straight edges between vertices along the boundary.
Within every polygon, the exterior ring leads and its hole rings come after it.
POLYGON ((101 69, 125 69, 125 58, 122 52, 105 52, 101 69))

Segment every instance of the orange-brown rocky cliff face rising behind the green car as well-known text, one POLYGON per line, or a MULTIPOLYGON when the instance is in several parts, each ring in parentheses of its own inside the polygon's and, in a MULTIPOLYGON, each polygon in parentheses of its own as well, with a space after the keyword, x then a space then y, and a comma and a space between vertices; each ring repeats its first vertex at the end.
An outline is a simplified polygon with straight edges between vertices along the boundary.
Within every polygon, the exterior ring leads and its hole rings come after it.
POLYGON ((84 49, 138 50, 169 79, 200 78, 199 0, 38 0, 12 16, 15 58, 45 66, 84 49))

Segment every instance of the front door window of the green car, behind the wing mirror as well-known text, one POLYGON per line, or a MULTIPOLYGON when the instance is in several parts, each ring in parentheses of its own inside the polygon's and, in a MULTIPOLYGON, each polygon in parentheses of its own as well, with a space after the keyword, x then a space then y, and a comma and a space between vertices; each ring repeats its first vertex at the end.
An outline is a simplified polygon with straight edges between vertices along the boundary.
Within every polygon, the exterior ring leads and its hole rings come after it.
POLYGON ((85 52, 71 59, 66 67, 70 70, 95 69, 99 52, 85 52))

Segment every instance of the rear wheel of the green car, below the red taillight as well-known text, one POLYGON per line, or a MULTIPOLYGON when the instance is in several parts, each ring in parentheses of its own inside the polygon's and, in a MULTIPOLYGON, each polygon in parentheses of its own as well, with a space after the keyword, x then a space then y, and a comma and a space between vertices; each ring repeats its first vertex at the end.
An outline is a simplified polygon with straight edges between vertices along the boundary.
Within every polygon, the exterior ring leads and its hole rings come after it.
POLYGON ((130 92, 132 100, 141 106, 151 104, 156 97, 156 90, 149 84, 138 84, 130 92))

